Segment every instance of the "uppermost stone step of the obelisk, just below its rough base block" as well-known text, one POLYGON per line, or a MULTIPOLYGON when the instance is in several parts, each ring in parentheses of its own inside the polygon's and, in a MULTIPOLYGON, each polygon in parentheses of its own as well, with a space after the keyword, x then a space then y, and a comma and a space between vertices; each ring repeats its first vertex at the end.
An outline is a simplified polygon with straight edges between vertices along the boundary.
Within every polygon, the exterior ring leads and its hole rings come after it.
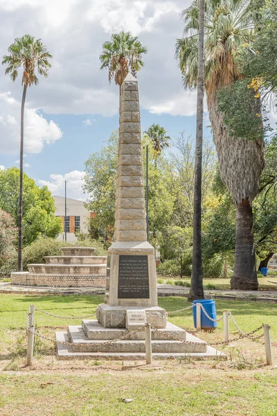
MULTIPOLYGON (((70 332, 78 332, 81 327, 69 326, 70 332)), ((89 340, 114 340, 121 336, 127 335, 129 332, 125 328, 103 328, 98 320, 82 320, 82 329, 89 340)), ((177 327, 176 325, 168 322, 165 329, 159 329, 159 331, 152 331, 153 340, 170 340, 166 335, 175 336, 186 340, 186 331, 177 327)), ((145 340, 145 331, 137 332, 130 336, 132 340, 145 340)))

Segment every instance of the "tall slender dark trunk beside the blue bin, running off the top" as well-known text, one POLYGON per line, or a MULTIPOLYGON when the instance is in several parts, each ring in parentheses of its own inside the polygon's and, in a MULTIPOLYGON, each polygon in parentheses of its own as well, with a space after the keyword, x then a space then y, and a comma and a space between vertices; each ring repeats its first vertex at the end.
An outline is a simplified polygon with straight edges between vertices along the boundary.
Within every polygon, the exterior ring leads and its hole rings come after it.
POLYGON ((193 205, 193 272, 191 275, 188 300, 203 299, 202 241, 201 241, 201 200, 202 200, 202 141, 204 112, 204 17, 205 0, 199 0, 199 38, 197 74, 197 122, 195 145, 195 189, 193 205))

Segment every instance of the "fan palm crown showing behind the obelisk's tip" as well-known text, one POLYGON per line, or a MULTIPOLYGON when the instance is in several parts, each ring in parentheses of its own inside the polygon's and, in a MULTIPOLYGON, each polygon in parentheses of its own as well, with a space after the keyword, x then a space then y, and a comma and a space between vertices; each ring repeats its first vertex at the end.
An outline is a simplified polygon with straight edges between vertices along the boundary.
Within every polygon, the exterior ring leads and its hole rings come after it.
POLYGON ((147 53, 147 48, 129 32, 113 33, 111 41, 103 44, 100 55, 101 69, 109 69, 109 82, 114 78, 116 85, 121 85, 130 71, 133 76, 139 71, 144 62, 141 58, 147 53))

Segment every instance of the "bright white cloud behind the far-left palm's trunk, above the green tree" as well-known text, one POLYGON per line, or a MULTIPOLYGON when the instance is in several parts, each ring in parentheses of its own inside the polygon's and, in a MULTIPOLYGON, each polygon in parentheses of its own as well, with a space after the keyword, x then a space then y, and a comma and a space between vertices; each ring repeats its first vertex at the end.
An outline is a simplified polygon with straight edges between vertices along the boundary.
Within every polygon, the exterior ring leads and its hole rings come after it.
MULTIPOLYGON (((21 103, 10 92, 0 94, 0 152, 8 155, 19 153, 21 103)), ((48 123, 33 108, 26 107, 24 117, 24 150, 26 153, 40 153, 45 144, 52 144, 62 138, 62 131, 52 120, 48 123)))

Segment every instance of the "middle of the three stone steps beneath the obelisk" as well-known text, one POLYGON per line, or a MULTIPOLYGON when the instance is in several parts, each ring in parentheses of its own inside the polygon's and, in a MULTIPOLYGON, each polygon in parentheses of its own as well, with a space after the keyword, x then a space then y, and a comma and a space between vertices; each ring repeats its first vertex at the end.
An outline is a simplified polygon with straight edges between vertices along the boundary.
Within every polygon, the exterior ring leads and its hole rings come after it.
MULTIPOLYGON (((144 340, 127 339, 106 344, 107 340, 89 340, 80 326, 69 326, 68 335, 71 343, 80 344, 72 346, 73 352, 145 352, 144 340)), ((206 352, 206 348, 206 343, 200 340, 195 345, 170 339, 152 340, 152 352, 206 352)))

